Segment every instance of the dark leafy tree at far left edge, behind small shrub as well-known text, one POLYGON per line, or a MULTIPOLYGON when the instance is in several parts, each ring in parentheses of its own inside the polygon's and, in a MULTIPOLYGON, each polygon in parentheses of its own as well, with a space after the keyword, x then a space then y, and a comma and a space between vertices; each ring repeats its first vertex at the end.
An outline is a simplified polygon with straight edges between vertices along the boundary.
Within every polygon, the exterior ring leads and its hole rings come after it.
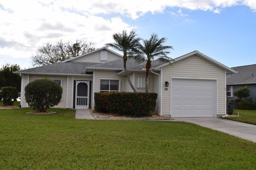
MULTIPOLYGON (((18 91, 20 91, 21 78, 18 74, 14 74, 13 72, 19 71, 20 66, 17 64, 5 64, 0 68, 0 88, 2 87, 15 87, 18 91)), ((17 95, 18 97, 18 92, 17 95)), ((16 98, 14 98, 15 100, 16 98)))

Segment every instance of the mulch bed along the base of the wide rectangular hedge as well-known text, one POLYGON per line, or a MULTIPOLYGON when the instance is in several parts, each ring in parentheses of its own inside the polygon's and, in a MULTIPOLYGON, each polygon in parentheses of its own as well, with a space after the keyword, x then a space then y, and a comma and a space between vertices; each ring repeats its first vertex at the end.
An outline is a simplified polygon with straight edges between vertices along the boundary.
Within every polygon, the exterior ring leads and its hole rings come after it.
POLYGON ((119 115, 119 114, 113 114, 113 113, 97 113, 93 112, 91 109, 89 110, 91 114, 96 118, 96 119, 114 119, 114 120, 162 120, 162 121, 170 121, 174 120, 171 117, 164 117, 160 116, 158 114, 154 114, 152 116, 147 116, 147 117, 130 117, 130 116, 125 116, 125 115, 119 115))

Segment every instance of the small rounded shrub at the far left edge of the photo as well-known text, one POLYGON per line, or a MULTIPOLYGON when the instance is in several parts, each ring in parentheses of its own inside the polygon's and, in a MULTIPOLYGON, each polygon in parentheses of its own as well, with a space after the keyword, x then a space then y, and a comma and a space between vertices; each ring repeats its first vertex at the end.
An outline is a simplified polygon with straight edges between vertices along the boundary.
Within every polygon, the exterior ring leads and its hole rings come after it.
POLYGON ((4 106, 13 105, 13 99, 17 96, 17 89, 15 87, 2 87, 2 97, 4 106))

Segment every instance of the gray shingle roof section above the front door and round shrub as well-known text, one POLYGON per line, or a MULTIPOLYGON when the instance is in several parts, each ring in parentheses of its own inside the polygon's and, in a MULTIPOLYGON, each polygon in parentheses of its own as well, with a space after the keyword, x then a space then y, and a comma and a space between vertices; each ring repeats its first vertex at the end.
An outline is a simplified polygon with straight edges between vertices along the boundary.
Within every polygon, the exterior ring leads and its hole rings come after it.
POLYGON ((97 65, 100 63, 85 63, 85 62, 66 62, 54 63, 31 69, 21 70, 29 73, 57 73, 57 74, 85 74, 86 67, 97 65))

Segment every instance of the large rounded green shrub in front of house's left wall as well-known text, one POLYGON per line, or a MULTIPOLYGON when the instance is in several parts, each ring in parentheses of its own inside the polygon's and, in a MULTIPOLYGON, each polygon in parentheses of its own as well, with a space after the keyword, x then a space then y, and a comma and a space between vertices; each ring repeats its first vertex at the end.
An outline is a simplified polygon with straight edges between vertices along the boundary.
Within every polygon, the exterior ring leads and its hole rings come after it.
POLYGON ((35 80, 25 87, 28 105, 38 112, 46 112, 48 108, 58 105, 61 95, 61 86, 49 79, 35 80))

